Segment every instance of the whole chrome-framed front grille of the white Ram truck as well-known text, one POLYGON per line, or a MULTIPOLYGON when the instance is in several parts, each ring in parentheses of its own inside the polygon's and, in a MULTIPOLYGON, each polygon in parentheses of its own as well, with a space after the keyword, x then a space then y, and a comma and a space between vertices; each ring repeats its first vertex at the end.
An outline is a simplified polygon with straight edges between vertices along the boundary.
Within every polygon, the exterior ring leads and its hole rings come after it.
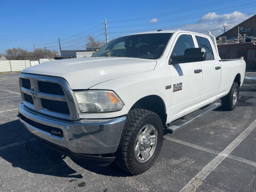
POLYGON ((71 90, 65 79, 21 73, 19 82, 23 103, 29 109, 56 118, 79 119, 75 101, 68 96, 71 90))

